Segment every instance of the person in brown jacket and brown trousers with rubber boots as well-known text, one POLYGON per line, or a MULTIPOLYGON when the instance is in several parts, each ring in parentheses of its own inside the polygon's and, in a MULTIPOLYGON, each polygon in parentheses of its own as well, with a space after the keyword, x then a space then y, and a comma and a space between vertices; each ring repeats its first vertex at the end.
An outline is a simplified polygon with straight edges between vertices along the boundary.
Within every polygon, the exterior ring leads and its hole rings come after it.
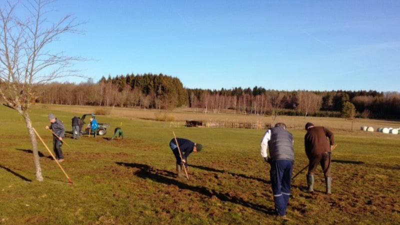
POLYGON ((308 158, 308 172, 306 175, 308 191, 314 191, 314 173, 316 167, 320 164, 325 177, 326 193, 330 194, 332 185, 330 154, 334 145, 333 132, 323 126, 314 126, 311 122, 305 124, 305 129, 307 130, 304 135, 304 148, 308 158))

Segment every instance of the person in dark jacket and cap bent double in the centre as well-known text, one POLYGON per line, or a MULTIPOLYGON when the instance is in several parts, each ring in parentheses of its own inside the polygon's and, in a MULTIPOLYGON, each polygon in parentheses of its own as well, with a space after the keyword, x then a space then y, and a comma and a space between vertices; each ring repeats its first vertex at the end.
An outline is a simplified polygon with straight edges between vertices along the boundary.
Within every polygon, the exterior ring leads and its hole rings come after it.
POLYGON ((202 145, 199 143, 194 143, 191 140, 179 138, 179 137, 176 137, 176 141, 175 141, 175 138, 172 138, 169 141, 169 147, 171 148, 173 155, 176 158, 177 177, 181 178, 181 177, 183 177, 183 174, 181 172, 182 166, 185 166, 186 170, 188 169, 187 157, 193 151, 199 152, 202 149, 202 145), (177 141, 177 143, 176 143, 176 141, 177 141), (179 146, 181 155, 179 154, 178 146, 179 146))

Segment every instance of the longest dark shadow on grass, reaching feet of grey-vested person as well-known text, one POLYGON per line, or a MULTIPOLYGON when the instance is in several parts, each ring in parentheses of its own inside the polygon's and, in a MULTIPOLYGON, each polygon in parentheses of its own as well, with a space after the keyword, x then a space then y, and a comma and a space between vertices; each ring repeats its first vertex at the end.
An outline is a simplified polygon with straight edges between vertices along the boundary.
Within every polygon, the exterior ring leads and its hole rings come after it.
MULTIPOLYGON (((238 198, 235 196, 230 196, 228 193, 221 193, 219 191, 213 190, 213 189, 208 189, 203 186, 193 186, 189 185, 187 183, 181 182, 175 178, 169 178, 163 175, 160 175, 160 173, 167 173, 170 174, 169 171, 165 170, 159 170, 159 169, 154 169, 153 167, 146 165, 146 164, 140 164, 140 163, 126 163, 126 162, 115 162, 118 165, 125 166, 125 167, 132 167, 132 168, 137 168, 139 170, 134 172, 134 175, 143 178, 143 179, 151 179, 156 182, 160 183, 165 183, 165 184, 173 184, 179 187, 180 189, 187 189, 190 191, 195 191, 200 194, 203 194, 207 197, 213 197, 215 196, 221 201, 229 201, 235 204, 240 204, 245 207, 252 208, 257 211, 264 212, 269 215, 275 215, 276 212, 272 208, 267 208, 264 205, 260 204, 254 204, 248 201, 243 200, 242 198, 238 198)), ((207 167, 206 167, 207 168, 207 167)))

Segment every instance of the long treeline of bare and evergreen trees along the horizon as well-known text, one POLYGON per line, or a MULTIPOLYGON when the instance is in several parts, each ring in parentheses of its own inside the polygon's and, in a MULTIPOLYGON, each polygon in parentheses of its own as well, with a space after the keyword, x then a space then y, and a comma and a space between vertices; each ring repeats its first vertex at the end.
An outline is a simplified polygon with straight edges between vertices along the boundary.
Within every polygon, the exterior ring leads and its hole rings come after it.
POLYGON ((341 116, 343 105, 353 105, 354 116, 400 118, 400 93, 375 90, 275 90, 254 86, 210 90, 185 88, 180 80, 163 74, 127 74, 102 77, 97 83, 35 85, 35 102, 173 109, 191 107, 204 113, 232 109, 259 115, 341 116))

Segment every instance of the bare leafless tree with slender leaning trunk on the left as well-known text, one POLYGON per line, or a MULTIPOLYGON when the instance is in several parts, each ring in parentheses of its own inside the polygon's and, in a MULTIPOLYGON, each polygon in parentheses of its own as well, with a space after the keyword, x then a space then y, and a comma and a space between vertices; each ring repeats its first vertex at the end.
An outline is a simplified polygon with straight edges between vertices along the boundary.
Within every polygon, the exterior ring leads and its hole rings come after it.
POLYGON ((80 23, 71 15, 49 24, 45 11, 53 0, 6 0, 0 4, 0 95, 8 107, 15 109, 25 120, 32 144, 36 179, 41 174, 36 136, 31 125, 28 108, 35 98, 33 85, 47 83, 56 78, 78 75, 71 62, 80 57, 52 53, 48 45, 61 34, 78 33, 80 23), (24 11, 24 17, 20 17, 24 11))

